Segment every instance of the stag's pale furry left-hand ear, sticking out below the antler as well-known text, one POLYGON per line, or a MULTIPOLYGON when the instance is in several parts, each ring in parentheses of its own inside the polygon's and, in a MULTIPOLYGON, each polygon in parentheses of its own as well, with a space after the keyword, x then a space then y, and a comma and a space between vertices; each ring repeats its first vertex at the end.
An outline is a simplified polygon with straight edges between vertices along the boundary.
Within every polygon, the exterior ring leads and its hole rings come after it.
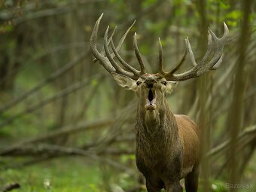
POLYGON ((112 77, 120 87, 126 88, 126 90, 135 90, 136 89, 136 81, 126 77, 125 75, 120 75, 115 72, 111 72, 112 77))

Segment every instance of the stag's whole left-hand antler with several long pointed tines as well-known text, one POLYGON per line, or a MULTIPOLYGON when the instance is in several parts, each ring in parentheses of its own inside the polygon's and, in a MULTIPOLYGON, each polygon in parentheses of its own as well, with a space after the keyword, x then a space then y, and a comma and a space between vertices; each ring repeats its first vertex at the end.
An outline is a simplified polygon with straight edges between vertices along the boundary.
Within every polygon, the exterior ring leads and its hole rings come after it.
POLYGON ((130 26, 129 29, 127 29, 127 31, 125 32, 125 34, 123 35, 123 37, 120 39, 117 47, 114 46, 114 42, 113 42, 113 36, 114 36, 114 31, 111 34, 111 37, 108 39, 108 28, 105 31, 105 35, 104 35, 104 46, 102 48, 102 51, 99 52, 99 50, 97 50, 96 47, 96 38, 97 38, 97 34, 98 34, 98 30, 99 30, 99 23, 102 20, 102 16, 103 14, 101 14, 101 16, 99 17, 99 19, 96 21, 95 26, 93 28, 93 32, 92 35, 90 37, 90 50, 93 53, 93 56, 96 57, 97 60, 99 60, 99 62, 102 63, 102 66, 108 71, 108 72, 116 72, 119 73, 121 75, 125 75, 129 78, 132 78, 134 80, 137 80, 139 78, 140 75, 145 74, 145 66, 143 64, 142 61, 142 56, 139 53, 139 48, 137 46, 137 41, 136 41, 136 34, 134 35, 134 41, 133 41, 133 45, 134 45, 134 50, 136 53, 136 57, 139 60, 139 66, 141 67, 141 71, 138 71, 137 69, 134 69, 132 66, 130 66, 127 62, 125 62, 119 55, 118 51, 120 50, 120 47, 123 44, 124 39, 126 38, 126 35, 128 34, 128 32, 130 32, 130 30, 132 29, 135 21, 133 22, 132 26, 130 26), (111 44, 111 48, 113 50, 113 53, 110 53, 110 50, 108 49, 108 45, 111 44), (124 70, 123 68, 121 68, 117 62, 114 60, 114 57, 117 58, 117 60, 125 67, 125 69, 127 69, 128 71, 124 70))

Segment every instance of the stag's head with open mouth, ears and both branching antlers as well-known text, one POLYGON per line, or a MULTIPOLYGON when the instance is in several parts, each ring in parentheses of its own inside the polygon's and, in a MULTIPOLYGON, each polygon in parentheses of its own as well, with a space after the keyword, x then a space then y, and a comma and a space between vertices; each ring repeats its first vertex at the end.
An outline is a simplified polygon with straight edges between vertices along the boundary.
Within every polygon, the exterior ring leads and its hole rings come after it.
POLYGON ((93 55, 96 57, 96 60, 102 63, 102 66, 111 73, 114 80, 117 81, 121 87, 126 88, 127 90, 136 91, 137 95, 140 98, 140 103, 145 106, 146 110, 155 110, 157 107, 163 105, 164 97, 166 93, 171 93, 172 86, 175 82, 185 81, 190 78, 197 78, 200 75, 203 75, 205 72, 209 72, 210 70, 215 70, 219 66, 221 66, 222 56, 223 56, 223 47, 224 42, 227 38, 228 28, 224 23, 224 35, 222 38, 216 37, 214 32, 209 29, 209 37, 208 37, 208 47, 206 50, 203 59, 200 62, 196 62, 194 58, 194 53, 191 49, 190 42, 188 38, 185 39, 186 50, 184 51, 184 55, 181 61, 172 68, 169 72, 164 72, 163 70, 163 49, 162 44, 159 38, 159 72, 157 74, 149 74, 145 70, 145 65, 143 64, 141 53, 139 52, 139 48, 137 45, 136 33, 133 36, 133 47, 136 54, 136 58, 139 61, 140 70, 134 69, 127 62, 125 62, 118 51, 123 44, 124 39, 132 26, 125 32, 123 37, 120 39, 117 47, 114 46, 113 36, 116 28, 111 34, 111 37, 108 38, 108 29, 107 27, 104 35, 104 46, 102 51, 99 52, 96 47, 96 37, 99 29, 99 23, 102 20, 103 14, 96 21, 96 24, 93 29, 93 33, 90 37, 90 49, 93 55), (209 55, 212 50, 212 38, 215 41, 215 53, 212 59, 209 60, 209 55), (112 53, 109 50, 109 44, 111 44, 112 53), (187 72, 176 74, 175 72, 181 67, 184 59, 187 55, 187 51, 190 54, 190 59, 193 64, 193 68, 188 70, 187 72), (120 67, 119 64, 114 60, 114 57, 120 62, 123 68, 120 67))

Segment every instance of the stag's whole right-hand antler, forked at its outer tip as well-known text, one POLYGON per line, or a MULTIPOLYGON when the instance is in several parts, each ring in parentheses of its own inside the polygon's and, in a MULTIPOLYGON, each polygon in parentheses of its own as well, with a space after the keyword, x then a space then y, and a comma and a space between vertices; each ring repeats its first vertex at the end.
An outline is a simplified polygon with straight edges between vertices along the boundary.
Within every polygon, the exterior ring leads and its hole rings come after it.
POLYGON ((196 62, 194 58, 194 53, 191 49, 190 42, 188 41, 188 38, 185 39, 186 42, 186 50, 184 52, 184 56, 181 59, 181 62, 178 63, 177 66, 175 66, 171 71, 169 72, 163 72, 163 50, 162 45, 159 39, 159 72, 162 74, 167 81, 184 81, 190 78, 197 78, 200 75, 203 75, 205 72, 209 72, 210 70, 215 70, 219 66, 221 66, 222 62, 222 56, 223 56, 223 47, 226 41, 228 35, 228 28, 226 23, 224 23, 224 35, 222 38, 218 38, 214 32, 212 32, 211 29, 209 29, 209 36, 208 36, 208 47, 206 50, 205 55, 203 56, 203 59, 200 60, 200 62, 196 62), (206 62, 207 59, 209 59, 209 55, 212 50, 212 38, 215 41, 215 53, 212 59, 209 62, 206 62), (181 66, 181 64, 184 62, 184 58, 186 56, 186 53, 190 54, 190 59, 193 64, 193 68, 188 70, 187 72, 181 73, 181 74, 174 74, 181 66))

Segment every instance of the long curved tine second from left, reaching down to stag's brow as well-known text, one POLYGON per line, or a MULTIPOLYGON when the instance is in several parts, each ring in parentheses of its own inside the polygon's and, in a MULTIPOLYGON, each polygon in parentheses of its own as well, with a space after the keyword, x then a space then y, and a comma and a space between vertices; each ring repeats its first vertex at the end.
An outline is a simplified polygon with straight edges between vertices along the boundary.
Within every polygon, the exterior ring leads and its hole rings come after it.
POLYGON ((126 72, 125 70, 123 70, 122 68, 120 68, 120 66, 118 66, 117 62, 114 61, 114 58, 111 56, 110 51, 108 50, 108 29, 109 26, 107 27, 107 29, 105 30, 105 35, 104 35, 104 50, 106 53, 106 56, 108 57, 109 62, 111 62, 111 65, 114 67, 114 69, 117 71, 117 73, 122 74, 122 75, 126 75, 129 78, 136 78, 135 75, 131 72, 126 72))

